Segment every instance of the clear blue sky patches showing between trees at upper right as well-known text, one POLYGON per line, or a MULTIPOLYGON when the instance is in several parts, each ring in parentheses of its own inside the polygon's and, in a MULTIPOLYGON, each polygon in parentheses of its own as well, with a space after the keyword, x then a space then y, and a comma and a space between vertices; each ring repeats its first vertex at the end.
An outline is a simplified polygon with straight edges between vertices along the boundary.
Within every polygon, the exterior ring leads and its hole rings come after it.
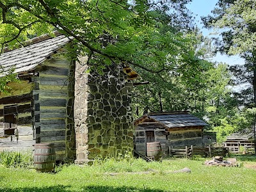
MULTIPOLYGON (((209 33, 212 31, 203 28, 200 17, 209 15, 217 2, 218 0, 193 0, 192 3, 188 4, 189 10, 195 14, 198 27, 202 30, 204 36, 211 37, 209 33)), ((228 63, 229 65, 244 64, 244 60, 239 56, 224 56, 221 54, 217 54, 211 61, 228 63)))

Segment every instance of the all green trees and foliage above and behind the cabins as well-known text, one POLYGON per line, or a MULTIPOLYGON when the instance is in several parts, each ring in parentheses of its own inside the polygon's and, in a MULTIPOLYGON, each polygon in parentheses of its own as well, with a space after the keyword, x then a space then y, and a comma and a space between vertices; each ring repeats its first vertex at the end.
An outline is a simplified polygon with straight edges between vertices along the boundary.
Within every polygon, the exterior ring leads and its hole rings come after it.
MULTIPOLYGON (((134 118, 156 111, 190 111, 216 131, 218 141, 251 127, 255 113, 255 0, 219 0, 202 18, 221 29, 209 39, 182 1, 1 0, 0 50, 58 30, 74 38, 73 54, 88 55, 90 70, 129 65, 150 84, 133 90, 134 118), (239 54, 245 65, 211 63, 216 52, 239 54), (246 84, 237 90, 234 86, 246 84)), ((0 52, 0 54, 1 54, 0 52)), ((10 76, 0 78, 8 90, 10 76)))

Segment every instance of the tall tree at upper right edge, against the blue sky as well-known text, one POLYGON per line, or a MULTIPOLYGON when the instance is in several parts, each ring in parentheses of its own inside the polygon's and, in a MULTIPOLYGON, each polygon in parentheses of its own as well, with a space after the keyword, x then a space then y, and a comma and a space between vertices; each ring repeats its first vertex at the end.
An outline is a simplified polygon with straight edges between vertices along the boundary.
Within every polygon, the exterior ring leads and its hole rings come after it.
MULTIPOLYGON (((243 80, 252 84, 253 103, 256 103, 256 14, 255 0, 219 0, 212 15, 202 18, 207 28, 221 29, 218 49, 227 54, 239 54, 246 60, 244 68, 232 67, 243 80), (240 74, 240 72, 243 72, 240 74)), ((250 93, 250 89, 244 90, 250 93)), ((241 95, 243 98, 244 95, 241 95)), ((247 97, 248 99, 248 97, 247 97)), ((248 100, 244 100, 248 101, 248 100)))

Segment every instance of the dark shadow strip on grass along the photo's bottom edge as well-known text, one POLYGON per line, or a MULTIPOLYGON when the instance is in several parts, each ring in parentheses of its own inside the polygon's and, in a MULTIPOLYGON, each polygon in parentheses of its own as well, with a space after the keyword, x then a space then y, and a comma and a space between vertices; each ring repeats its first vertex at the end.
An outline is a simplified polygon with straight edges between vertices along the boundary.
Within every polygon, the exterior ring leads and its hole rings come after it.
MULTIPOLYGON (((1 188, 1 192, 71 192, 74 191, 71 186, 51 186, 51 187, 31 187, 31 188, 1 188)), ((87 192, 164 192, 160 189, 142 189, 132 188, 126 186, 113 187, 113 186, 84 186, 78 188, 75 191, 87 191, 87 192)), ((174 192, 174 191, 173 191, 174 192)))

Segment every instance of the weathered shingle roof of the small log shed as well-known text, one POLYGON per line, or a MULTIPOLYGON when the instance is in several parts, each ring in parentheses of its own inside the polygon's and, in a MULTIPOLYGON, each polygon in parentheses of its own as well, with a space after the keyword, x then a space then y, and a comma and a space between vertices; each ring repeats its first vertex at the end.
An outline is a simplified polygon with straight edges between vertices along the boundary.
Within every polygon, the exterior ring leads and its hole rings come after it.
POLYGON ((175 111, 168 113, 149 113, 143 115, 141 118, 134 122, 134 125, 139 125, 145 120, 152 119, 165 127, 193 127, 193 126, 207 126, 200 118, 189 114, 186 111, 175 111))

